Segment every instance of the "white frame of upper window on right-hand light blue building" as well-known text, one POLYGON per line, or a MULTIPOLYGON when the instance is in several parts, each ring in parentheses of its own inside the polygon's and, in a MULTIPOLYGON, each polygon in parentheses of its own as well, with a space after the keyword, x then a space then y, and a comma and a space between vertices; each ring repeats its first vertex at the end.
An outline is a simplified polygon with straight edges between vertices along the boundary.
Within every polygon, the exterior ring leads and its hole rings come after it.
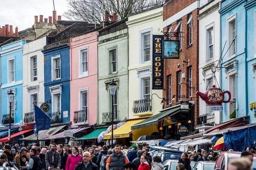
MULTIPOLYGON (((233 41, 233 32, 232 32, 232 23, 235 21, 235 36, 237 33, 237 17, 236 17, 236 13, 231 15, 229 18, 227 18, 227 49, 229 48, 230 44, 233 41)), ((233 49, 233 45, 234 43, 231 45, 231 47, 229 48, 228 51, 228 55, 227 55, 227 60, 232 59, 233 57, 236 56, 236 39, 235 39, 235 54, 232 54, 232 49, 233 49)))

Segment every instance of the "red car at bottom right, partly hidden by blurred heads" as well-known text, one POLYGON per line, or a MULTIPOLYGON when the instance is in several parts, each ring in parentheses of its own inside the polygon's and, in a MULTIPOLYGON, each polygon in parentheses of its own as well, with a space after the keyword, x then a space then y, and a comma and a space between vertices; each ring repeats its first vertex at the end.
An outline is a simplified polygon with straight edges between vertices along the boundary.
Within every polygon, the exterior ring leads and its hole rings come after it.
MULTIPOLYGON (((241 157, 241 152, 222 152, 218 159, 216 160, 216 164, 214 170, 227 170, 227 164, 232 162, 234 159, 238 159, 241 157)), ((253 168, 256 168, 256 155, 253 156, 253 168)))

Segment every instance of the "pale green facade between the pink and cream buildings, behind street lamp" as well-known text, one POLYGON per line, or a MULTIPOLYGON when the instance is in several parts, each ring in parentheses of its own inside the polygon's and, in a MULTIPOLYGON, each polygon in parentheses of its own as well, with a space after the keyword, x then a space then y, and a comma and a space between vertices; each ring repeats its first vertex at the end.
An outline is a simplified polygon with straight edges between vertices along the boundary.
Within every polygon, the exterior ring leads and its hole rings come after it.
POLYGON ((99 31, 98 124, 111 121, 111 95, 108 85, 112 80, 117 84, 114 121, 128 118, 128 30, 125 21, 121 20, 99 31), (113 55, 115 59, 111 58, 113 55))

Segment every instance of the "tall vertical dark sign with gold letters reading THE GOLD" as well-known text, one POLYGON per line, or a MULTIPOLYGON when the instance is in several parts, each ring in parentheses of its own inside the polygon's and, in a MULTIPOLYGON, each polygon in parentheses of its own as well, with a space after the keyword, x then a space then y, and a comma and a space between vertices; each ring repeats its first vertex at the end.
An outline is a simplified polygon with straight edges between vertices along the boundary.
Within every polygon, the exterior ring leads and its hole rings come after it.
POLYGON ((163 89, 163 35, 153 35, 152 89, 163 89))

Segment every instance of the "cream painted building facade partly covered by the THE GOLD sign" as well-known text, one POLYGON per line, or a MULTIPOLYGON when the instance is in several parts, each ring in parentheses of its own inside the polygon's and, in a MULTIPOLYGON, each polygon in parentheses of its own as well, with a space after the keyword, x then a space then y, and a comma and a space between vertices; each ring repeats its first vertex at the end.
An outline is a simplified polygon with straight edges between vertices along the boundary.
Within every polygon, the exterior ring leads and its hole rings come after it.
POLYGON ((155 115, 162 110, 162 99, 152 94, 162 97, 163 91, 152 90, 152 35, 163 34, 163 7, 131 14, 126 24, 129 35, 128 118, 155 115))

